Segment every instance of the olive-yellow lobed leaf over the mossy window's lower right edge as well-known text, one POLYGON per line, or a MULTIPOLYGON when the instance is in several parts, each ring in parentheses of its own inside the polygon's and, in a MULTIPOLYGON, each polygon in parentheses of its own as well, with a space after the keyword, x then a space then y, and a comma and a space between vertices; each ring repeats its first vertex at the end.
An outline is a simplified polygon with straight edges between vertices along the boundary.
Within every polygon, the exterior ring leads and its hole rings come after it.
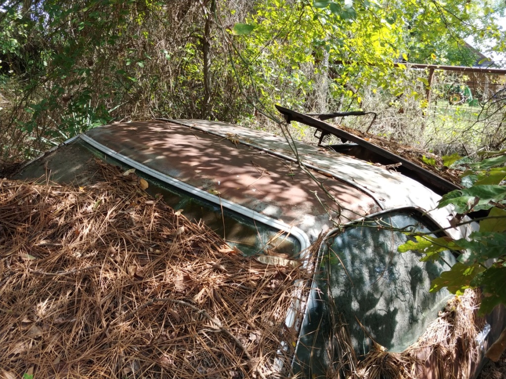
POLYGON ((483 266, 457 262, 449 271, 443 271, 440 277, 435 278, 431 284, 430 292, 437 292, 447 288, 452 294, 462 295, 465 290, 471 288, 471 281, 484 270, 483 266))

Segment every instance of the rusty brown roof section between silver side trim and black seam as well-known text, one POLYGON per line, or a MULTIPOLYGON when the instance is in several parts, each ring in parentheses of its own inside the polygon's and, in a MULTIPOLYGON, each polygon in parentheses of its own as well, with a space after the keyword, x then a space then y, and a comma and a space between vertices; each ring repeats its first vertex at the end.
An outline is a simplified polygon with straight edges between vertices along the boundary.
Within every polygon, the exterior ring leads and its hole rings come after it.
POLYGON ((87 134, 152 169, 303 229, 332 225, 322 203, 340 222, 381 210, 357 188, 312 171, 331 201, 296 163, 237 144, 233 135, 220 138, 164 121, 114 124, 87 134))

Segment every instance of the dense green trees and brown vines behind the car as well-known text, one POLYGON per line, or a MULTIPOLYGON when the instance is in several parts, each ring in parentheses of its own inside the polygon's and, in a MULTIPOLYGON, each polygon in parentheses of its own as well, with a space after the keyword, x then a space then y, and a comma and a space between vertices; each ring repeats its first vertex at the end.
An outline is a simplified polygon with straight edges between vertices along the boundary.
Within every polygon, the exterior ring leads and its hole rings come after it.
MULTIPOLYGON (((390 113, 410 114, 411 129, 422 131, 427 72, 413 78, 394 63, 467 62, 461 38, 471 34, 505 51, 504 33, 491 17, 497 7, 484 4, 3 2, 0 155, 32 157, 112 121, 267 123, 259 114, 276 118, 276 103, 305 111, 377 111, 378 122, 385 113, 378 130, 387 136, 385 127, 406 128, 390 113)), ((416 139, 419 133, 408 134, 416 139)))

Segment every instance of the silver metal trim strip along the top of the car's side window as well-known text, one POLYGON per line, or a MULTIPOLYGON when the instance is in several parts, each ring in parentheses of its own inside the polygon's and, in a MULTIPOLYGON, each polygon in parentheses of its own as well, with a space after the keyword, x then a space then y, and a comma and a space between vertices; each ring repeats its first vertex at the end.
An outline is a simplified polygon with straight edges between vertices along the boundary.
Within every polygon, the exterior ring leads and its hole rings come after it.
POLYGON ((209 193, 203 191, 203 189, 194 187, 194 186, 192 186, 188 183, 185 183, 181 180, 178 180, 176 178, 173 178, 171 176, 168 176, 168 175, 165 175, 161 172, 158 172, 152 168, 149 168, 149 167, 143 165, 142 163, 139 163, 139 162, 133 160, 132 158, 125 157, 124 155, 108 148, 107 146, 100 144, 95 139, 93 139, 92 137, 90 137, 86 134, 79 134, 79 137, 82 140, 84 140, 86 143, 88 143, 88 144, 92 145, 93 147, 95 147, 96 149, 100 150, 101 152, 103 152, 109 156, 112 156, 115 159, 117 159, 123 163, 126 163, 129 166, 132 166, 132 167, 138 169, 139 171, 144 172, 145 174, 153 176, 156 179, 159 179, 165 183, 177 186, 178 188, 183 189, 183 191, 194 194, 201 199, 205 199, 205 200, 210 201, 210 202, 217 204, 219 206, 223 206, 223 207, 230 209, 234 212, 237 212, 243 216, 263 222, 266 225, 272 226, 274 228, 277 228, 281 231, 284 231, 284 232, 287 232, 287 233, 293 235, 300 242, 301 252, 303 254, 311 246, 311 242, 310 242, 309 237, 306 234, 306 232, 304 230, 298 228, 297 226, 290 226, 283 221, 276 220, 276 219, 271 218, 269 216, 263 215, 257 211, 254 211, 250 208, 244 207, 239 204, 235 204, 234 202, 231 202, 230 200, 219 198, 216 195, 212 195, 212 194, 209 194, 209 193))

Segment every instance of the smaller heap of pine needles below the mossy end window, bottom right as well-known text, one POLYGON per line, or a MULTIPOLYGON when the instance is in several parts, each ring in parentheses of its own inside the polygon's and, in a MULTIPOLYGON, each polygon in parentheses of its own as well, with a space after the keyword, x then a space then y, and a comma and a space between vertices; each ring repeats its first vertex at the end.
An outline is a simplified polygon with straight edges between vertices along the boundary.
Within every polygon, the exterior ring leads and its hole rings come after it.
POLYGON ((390 353, 378 344, 356 362, 352 379, 464 379, 472 377, 480 360, 475 337, 485 325, 477 317, 481 293, 466 290, 450 299, 418 341, 401 353, 390 353), (420 376, 421 375, 421 376, 420 376))

